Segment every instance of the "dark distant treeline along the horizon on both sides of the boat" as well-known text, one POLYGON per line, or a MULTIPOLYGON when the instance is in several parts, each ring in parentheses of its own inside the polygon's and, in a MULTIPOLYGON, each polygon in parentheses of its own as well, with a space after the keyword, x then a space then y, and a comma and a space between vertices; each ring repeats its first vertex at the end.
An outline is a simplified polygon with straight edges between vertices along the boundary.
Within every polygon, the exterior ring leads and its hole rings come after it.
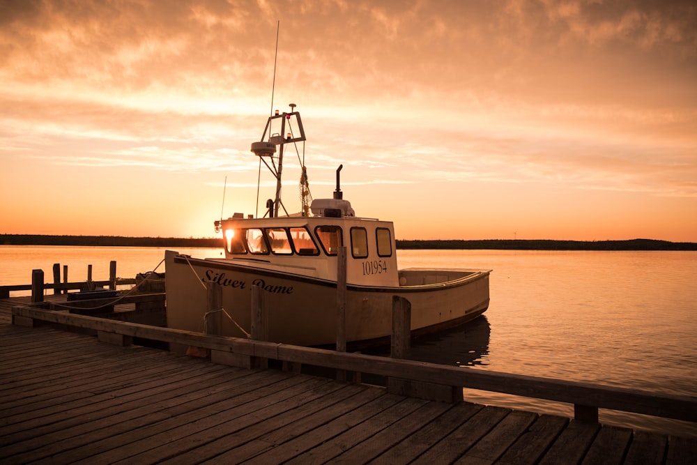
MULTIPOLYGON (((220 238, 124 237, 124 236, 45 236, 40 234, 0 234, 1 245, 82 245, 97 247, 222 247, 220 238)), ((631 239, 630 241, 404 241, 398 249, 450 250, 697 250, 697 243, 631 239)))

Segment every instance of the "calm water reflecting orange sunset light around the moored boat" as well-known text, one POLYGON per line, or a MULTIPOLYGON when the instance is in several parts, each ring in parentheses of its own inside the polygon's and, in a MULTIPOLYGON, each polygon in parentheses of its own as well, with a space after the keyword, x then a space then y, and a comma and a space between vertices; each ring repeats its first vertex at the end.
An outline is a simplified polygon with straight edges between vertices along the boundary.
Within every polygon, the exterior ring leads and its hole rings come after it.
MULTIPOLYGON (((179 252, 220 256, 213 249, 179 252)), ((0 246, 0 285, 28 284, 35 268, 50 281, 54 263, 68 265, 70 281, 86 279, 88 264, 94 280, 107 279, 111 260, 119 277, 135 277, 163 257, 156 247, 0 246)), ((484 317, 420 340, 413 358, 697 396, 697 252, 399 250, 399 266, 493 270, 484 317)), ((573 416, 567 404, 475 390, 465 396, 573 416)), ((600 419, 697 436, 691 423, 611 411, 600 419)))

